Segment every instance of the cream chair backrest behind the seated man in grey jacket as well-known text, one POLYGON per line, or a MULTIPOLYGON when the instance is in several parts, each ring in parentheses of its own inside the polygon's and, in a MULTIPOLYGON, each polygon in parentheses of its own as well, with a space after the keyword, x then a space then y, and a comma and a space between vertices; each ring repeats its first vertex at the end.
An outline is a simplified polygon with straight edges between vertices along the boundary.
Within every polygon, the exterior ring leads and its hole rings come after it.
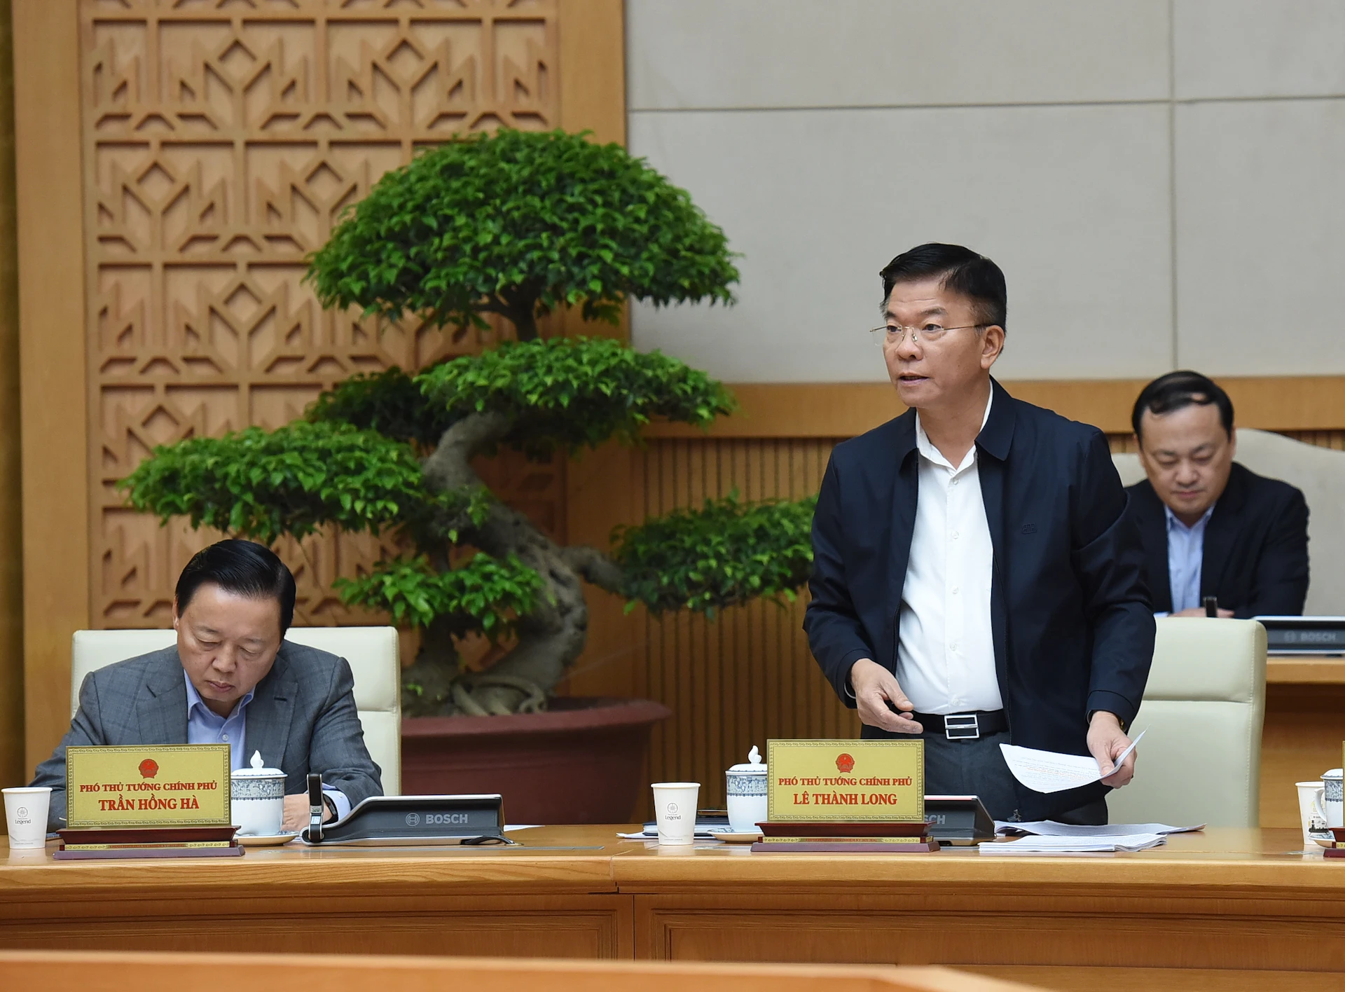
MULTIPOLYGON (((286 640, 350 661, 364 746, 382 769, 383 794, 402 790, 401 655, 394 626, 292 626, 286 640)), ((75 630, 70 659, 70 712, 89 672, 176 644, 172 630, 75 630)))

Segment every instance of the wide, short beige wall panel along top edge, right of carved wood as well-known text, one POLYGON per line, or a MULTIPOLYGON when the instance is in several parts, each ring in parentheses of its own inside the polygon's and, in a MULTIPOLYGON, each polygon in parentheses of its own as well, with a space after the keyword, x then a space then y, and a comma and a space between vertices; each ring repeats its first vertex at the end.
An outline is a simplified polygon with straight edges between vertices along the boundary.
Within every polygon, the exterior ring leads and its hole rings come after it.
POLYGON ((627 0, 632 110, 1166 99, 1167 46, 1167 0, 627 0))

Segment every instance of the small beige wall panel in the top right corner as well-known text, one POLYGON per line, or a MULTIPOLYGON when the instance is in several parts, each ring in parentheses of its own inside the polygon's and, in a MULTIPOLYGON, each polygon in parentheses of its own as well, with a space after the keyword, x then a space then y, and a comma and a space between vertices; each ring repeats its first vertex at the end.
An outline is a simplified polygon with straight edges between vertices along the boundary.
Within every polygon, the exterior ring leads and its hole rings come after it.
POLYGON ((1345 94, 1345 0, 1173 0, 1178 99, 1345 94))

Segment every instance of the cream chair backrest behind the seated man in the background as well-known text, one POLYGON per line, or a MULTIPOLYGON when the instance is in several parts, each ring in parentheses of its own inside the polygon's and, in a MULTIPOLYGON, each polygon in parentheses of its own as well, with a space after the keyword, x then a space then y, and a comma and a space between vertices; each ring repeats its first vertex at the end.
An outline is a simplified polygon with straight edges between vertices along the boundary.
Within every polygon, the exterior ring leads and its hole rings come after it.
MULTIPOLYGON (((1145 477, 1137 454, 1114 454, 1112 462, 1124 485, 1145 477)), ((1237 430, 1237 461, 1259 476, 1283 479, 1303 491, 1307 500, 1307 554, 1311 582, 1303 613, 1315 617, 1345 616, 1345 452, 1305 445, 1268 430, 1237 430)))

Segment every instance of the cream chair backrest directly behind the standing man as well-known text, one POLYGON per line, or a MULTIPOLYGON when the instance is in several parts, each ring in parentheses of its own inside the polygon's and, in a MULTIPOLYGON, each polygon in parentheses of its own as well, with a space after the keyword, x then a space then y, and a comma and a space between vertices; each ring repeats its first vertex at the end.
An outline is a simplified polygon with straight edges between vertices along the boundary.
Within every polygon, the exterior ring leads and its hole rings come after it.
POLYGON ((1256 827, 1266 715, 1266 628, 1255 620, 1158 620, 1134 733, 1135 780, 1107 796, 1112 823, 1256 827))

